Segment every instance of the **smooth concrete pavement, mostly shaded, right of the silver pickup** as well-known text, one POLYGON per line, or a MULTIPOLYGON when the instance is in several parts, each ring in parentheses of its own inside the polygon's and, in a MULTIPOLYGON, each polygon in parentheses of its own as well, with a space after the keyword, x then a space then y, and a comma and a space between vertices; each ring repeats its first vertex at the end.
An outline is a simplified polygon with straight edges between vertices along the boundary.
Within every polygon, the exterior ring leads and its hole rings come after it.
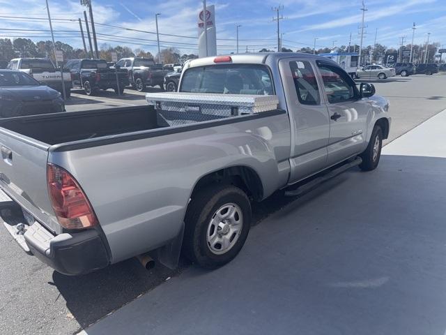
POLYGON ((81 334, 445 334, 446 111, 81 334), (443 131, 441 131, 443 130, 443 131))

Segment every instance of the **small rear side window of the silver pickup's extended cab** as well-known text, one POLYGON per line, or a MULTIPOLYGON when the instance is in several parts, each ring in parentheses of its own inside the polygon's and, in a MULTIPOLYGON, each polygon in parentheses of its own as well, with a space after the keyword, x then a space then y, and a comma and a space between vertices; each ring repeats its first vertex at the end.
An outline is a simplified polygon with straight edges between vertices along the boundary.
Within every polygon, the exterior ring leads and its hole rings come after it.
POLYGON ((290 61, 290 68, 299 102, 302 105, 319 105, 321 96, 309 61, 290 61))

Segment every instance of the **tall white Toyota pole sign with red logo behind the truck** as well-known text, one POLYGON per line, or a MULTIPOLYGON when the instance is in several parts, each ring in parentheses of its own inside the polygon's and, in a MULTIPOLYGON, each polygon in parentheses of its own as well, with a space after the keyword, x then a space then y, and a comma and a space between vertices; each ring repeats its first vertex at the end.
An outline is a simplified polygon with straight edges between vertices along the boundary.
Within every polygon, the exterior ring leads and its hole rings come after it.
POLYGON ((204 22, 206 20, 206 30, 208 35, 208 56, 217 54, 217 33, 215 28, 215 6, 206 6, 206 14, 203 10, 198 14, 198 57, 206 57, 206 43, 204 34, 204 22))

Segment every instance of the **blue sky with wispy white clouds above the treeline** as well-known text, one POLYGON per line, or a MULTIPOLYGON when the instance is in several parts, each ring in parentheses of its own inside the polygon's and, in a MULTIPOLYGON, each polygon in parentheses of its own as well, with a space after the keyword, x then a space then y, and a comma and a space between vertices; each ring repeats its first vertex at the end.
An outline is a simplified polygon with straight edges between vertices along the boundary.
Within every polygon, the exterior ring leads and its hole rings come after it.
MULTIPOLYGON (((142 48, 155 54, 155 13, 161 13, 158 17, 161 48, 176 47, 182 54, 197 53, 197 16, 203 6, 199 0, 92 0, 92 3, 98 45, 142 48)), ((277 6, 283 6, 280 31, 284 33, 284 47, 292 50, 313 47, 314 38, 317 38, 316 48, 332 47, 333 43, 348 45, 350 34, 352 45, 360 44, 360 0, 208 0, 207 4, 215 5, 219 54, 236 51, 238 24, 242 25, 240 51, 277 48, 277 22, 272 21, 275 15, 272 7, 277 6)), ((401 36, 404 44, 409 44, 415 22, 414 43, 426 43, 430 32, 431 42, 446 47, 446 0, 365 0, 365 6, 363 45, 373 45, 375 34, 376 43, 387 47, 397 47, 401 36)), ((0 7, 0 38, 50 39, 45 0, 0 0, 0 7)), ((84 9, 79 1, 49 0, 56 40, 82 47, 77 19, 83 18, 84 9)))

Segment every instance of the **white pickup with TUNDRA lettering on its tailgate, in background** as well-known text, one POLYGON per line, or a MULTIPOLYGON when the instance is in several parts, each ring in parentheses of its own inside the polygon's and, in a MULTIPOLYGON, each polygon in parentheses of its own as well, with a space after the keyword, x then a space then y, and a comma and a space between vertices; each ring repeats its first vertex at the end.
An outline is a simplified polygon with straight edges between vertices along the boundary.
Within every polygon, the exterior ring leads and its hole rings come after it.
POLYGON ((56 91, 65 94, 68 98, 71 94, 71 76, 68 71, 63 71, 63 85, 61 80, 61 71, 54 66, 51 59, 48 58, 15 58, 11 59, 8 68, 20 70, 28 73, 40 84, 47 85, 56 91))

